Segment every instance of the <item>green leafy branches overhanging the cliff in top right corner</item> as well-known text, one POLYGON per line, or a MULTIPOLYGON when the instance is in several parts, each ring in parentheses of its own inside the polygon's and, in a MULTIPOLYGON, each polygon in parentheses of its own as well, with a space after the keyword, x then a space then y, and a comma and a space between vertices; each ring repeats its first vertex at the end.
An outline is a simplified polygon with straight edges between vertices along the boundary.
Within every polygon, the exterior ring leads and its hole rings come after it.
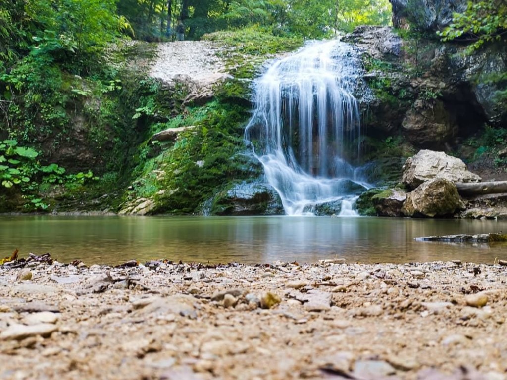
POLYGON ((487 42, 505 41, 507 31, 507 4, 502 0, 468 2, 465 12, 455 13, 453 22, 438 32, 443 41, 468 40, 468 52, 479 49, 487 42))

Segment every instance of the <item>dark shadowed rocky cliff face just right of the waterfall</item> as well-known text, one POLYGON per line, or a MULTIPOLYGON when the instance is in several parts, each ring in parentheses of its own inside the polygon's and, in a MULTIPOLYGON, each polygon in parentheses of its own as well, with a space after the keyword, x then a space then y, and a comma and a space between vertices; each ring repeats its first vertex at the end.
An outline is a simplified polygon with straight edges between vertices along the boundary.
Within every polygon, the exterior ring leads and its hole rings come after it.
POLYGON ((507 120, 493 73, 507 68, 507 47, 473 55, 464 46, 411 37, 388 27, 360 27, 347 41, 363 52, 365 79, 375 96, 359 96, 372 136, 400 135, 415 150, 451 149, 484 128, 507 120))

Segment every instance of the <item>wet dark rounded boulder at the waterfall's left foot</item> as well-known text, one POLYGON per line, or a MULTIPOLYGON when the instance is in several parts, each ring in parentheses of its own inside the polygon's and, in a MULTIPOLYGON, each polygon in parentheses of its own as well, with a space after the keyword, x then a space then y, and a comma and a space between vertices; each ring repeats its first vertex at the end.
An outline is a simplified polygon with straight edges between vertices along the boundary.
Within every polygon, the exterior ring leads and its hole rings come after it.
POLYGON ((211 202, 212 215, 283 215, 283 205, 274 187, 267 183, 234 184, 211 202))

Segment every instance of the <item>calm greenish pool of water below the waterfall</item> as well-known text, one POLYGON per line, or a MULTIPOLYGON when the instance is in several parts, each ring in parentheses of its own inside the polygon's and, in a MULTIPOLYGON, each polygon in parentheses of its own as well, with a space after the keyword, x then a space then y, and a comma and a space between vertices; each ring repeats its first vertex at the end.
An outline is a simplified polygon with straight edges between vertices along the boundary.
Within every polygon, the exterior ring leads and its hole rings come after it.
POLYGON ((0 255, 50 252, 61 262, 157 258, 200 262, 409 262, 507 259, 505 244, 415 242, 427 235, 507 231, 502 220, 368 217, 1 216, 0 255))

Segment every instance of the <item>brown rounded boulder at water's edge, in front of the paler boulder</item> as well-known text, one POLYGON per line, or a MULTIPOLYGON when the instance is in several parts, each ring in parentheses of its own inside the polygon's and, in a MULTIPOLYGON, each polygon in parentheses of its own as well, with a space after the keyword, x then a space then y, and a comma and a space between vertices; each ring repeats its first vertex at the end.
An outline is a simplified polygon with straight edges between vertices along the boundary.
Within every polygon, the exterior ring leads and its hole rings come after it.
POLYGON ((464 208, 454 182, 433 178, 407 195, 402 212, 406 216, 447 216, 464 208))

